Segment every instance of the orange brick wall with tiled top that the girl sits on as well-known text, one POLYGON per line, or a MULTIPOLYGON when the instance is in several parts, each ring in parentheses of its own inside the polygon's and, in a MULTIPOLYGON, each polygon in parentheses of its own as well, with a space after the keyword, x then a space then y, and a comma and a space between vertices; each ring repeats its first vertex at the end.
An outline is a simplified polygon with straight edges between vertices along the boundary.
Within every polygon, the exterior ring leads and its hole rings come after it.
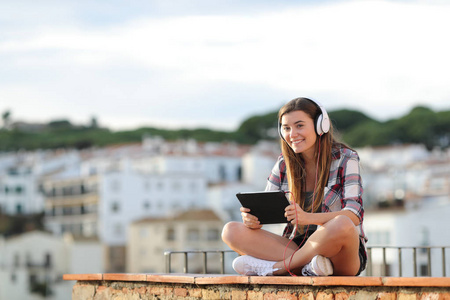
POLYGON ((73 300, 450 300, 450 278, 66 274, 73 300))

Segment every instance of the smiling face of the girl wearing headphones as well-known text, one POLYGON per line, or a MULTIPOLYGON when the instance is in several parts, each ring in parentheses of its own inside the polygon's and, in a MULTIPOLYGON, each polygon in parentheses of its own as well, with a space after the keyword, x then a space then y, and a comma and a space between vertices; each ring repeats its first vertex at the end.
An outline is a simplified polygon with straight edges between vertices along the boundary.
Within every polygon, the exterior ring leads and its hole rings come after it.
POLYGON ((304 111, 295 110, 281 117, 281 134, 295 153, 314 157, 317 135, 314 120, 304 111))

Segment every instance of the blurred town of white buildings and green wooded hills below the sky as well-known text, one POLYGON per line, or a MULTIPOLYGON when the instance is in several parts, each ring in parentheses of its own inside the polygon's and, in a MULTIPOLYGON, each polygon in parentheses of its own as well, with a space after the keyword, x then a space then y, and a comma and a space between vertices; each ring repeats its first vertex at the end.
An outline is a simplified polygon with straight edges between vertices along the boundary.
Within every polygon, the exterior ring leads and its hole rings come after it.
MULTIPOLYGON (((330 118, 361 158, 368 245, 449 246, 450 111, 416 107, 379 122, 342 109, 330 118)), ((276 112, 234 132, 113 132, 95 119, 31 124, 6 111, 0 150, 1 299, 64 298, 65 273, 163 273, 165 251, 227 249, 222 226, 241 220, 235 194, 264 190, 280 155, 276 112)), ((419 275, 442 276, 441 257, 428 274, 421 255, 419 275)), ((200 262, 191 257, 189 272, 200 262)), ((381 261, 374 266, 380 274, 381 261)), ((172 268, 183 271, 181 258, 172 268)), ((210 257, 208 272, 219 271, 210 257)))

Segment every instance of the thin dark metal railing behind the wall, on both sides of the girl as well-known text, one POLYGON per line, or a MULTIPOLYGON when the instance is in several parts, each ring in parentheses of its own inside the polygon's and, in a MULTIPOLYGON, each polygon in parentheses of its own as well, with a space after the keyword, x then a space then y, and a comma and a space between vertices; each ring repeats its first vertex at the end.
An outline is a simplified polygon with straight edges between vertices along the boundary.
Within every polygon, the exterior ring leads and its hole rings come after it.
MULTIPOLYGON (((404 276, 405 266, 410 267, 408 271, 412 274, 407 276, 432 276, 432 257, 435 265, 441 267, 440 276, 447 276, 446 251, 450 252, 450 246, 418 246, 418 247, 393 247, 393 246, 370 246, 367 247, 367 268, 363 272, 365 276, 404 276), (388 253, 389 252, 389 253, 388 253), (409 254, 407 252, 410 252, 409 254), (432 256, 434 252, 434 256, 432 256), (438 254, 438 252, 440 254, 438 254), (393 254, 394 253, 394 254, 393 254), (388 255, 389 254, 389 255, 388 255), (438 255, 437 255, 438 254, 438 255), (375 258, 374 258, 375 256, 375 258), (411 256, 410 263, 405 263, 404 260, 411 256), (439 263, 440 260, 440 263, 439 263), (412 266, 412 267, 411 267, 412 266), (418 274, 418 266, 420 267, 420 274, 418 274), (375 267, 378 267, 375 270, 375 267), (393 267, 391 269, 391 267, 393 267), (396 267, 396 268, 395 268, 396 267), (395 270, 396 269, 396 270, 395 270)), ((189 273, 189 256, 202 256, 202 272, 199 274, 208 273, 208 254, 218 254, 220 263, 220 274, 225 274, 225 253, 235 253, 233 250, 190 250, 190 251, 166 251, 164 252, 166 262, 166 273, 172 273, 172 257, 174 255, 183 256, 183 273, 189 273)), ((237 254, 236 254, 237 256, 237 254)), ((409 259, 408 259, 409 261, 409 259)), ((408 272, 406 272, 408 273, 408 272)))

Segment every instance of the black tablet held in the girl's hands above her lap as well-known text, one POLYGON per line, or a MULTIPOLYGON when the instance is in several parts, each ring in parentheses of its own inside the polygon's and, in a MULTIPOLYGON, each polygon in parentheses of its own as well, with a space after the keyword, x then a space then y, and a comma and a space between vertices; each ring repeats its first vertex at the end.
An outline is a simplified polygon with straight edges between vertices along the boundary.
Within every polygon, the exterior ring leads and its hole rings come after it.
POLYGON ((238 193, 236 197, 261 224, 288 223, 284 209, 290 203, 283 191, 238 193))

